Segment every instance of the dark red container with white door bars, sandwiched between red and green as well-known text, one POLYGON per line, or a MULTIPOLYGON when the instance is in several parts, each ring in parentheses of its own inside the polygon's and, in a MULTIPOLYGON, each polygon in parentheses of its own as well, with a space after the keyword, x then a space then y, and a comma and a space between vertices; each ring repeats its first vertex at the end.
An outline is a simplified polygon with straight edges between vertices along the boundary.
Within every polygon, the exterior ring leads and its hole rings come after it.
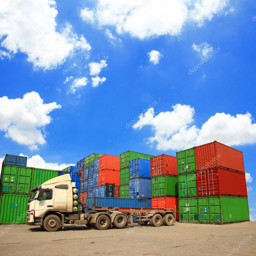
POLYGON ((244 173, 216 167, 196 172, 198 196, 241 196, 247 197, 244 173))

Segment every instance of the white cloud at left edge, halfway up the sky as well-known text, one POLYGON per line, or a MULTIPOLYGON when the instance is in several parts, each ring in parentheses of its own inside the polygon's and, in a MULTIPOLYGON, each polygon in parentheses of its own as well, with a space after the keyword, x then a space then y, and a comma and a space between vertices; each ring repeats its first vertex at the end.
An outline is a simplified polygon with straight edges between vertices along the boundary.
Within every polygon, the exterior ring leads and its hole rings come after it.
POLYGON ((34 91, 24 94, 22 99, 4 96, 0 98, 0 130, 5 137, 37 149, 37 145, 46 142, 42 132, 52 121, 48 114, 60 108, 56 102, 44 103, 34 91))

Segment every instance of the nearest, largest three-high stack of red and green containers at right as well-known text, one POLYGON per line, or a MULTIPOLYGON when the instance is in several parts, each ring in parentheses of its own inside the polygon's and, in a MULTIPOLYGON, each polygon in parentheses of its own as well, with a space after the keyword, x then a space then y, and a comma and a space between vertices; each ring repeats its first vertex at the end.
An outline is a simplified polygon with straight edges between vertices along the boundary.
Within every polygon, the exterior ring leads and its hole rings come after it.
POLYGON ((177 152, 180 221, 249 220, 243 154, 219 142, 177 152))

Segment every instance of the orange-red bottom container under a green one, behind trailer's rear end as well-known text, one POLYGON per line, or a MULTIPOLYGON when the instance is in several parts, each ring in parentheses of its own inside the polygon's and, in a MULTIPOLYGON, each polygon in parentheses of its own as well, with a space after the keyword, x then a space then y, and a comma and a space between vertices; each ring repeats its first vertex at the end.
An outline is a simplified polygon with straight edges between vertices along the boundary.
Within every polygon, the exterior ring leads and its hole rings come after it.
POLYGON ((175 220, 179 220, 179 198, 178 197, 154 197, 151 199, 152 208, 155 209, 173 209, 175 208, 175 220))

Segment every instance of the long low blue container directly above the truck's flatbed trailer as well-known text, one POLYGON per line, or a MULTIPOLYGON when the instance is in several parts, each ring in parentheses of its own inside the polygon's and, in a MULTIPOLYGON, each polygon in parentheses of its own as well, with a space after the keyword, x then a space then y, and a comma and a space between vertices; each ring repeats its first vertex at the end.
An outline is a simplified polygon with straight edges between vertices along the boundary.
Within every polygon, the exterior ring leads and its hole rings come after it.
POLYGON ((151 199, 147 198, 119 198, 119 197, 88 197, 86 206, 96 207, 126 207, 151 208, 151 199))

